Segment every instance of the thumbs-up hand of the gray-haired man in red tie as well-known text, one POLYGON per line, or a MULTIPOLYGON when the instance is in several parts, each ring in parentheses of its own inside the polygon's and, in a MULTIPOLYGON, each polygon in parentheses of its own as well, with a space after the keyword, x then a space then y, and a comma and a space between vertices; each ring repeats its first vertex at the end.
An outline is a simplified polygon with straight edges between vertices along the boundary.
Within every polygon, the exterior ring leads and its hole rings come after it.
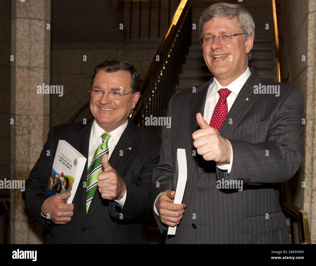
POLYGON ((216 128, 207 124, 201 113, 197 113, 196 118, 201 128, 192 134, 193 146, 197 149, 197 153, 206 161, 230 163, 232 154, 228 140, 224 139, 216 128))

